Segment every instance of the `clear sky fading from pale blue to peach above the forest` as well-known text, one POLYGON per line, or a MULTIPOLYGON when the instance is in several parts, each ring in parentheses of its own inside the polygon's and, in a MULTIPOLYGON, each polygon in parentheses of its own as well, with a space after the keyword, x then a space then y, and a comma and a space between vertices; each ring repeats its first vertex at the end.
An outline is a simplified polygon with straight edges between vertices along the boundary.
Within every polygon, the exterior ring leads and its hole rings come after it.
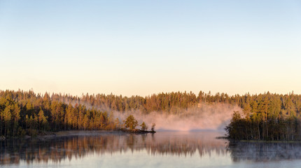
POLYGON ((3 1, 0 90, 301 94, 300 1, 3 1))

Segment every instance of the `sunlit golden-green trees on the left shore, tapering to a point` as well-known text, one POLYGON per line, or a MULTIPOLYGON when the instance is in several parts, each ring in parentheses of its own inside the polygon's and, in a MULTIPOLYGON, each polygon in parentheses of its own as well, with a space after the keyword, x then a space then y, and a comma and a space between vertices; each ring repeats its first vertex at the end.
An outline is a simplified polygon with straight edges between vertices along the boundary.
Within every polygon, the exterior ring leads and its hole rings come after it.
MULTIPOLYGON (((146 124, 143 123, 144 130, 146 124)), ((137 120, 114 118, 113 111, 88 109, 82 104, 66 104, 34 92, 0 92, 0 135, 36 135, 39 130, 119 130, 135 129, 137 120), (133 124, 134 123, 134 124, 133 124)))

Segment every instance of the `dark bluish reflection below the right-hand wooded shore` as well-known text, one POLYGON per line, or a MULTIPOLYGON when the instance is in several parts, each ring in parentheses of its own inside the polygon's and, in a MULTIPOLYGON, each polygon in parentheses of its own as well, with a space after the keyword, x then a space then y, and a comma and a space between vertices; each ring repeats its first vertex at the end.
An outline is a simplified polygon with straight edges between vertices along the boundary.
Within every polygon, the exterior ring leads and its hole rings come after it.
POLYGON ((230 142, 228 151, 230 151, 233 162, 301 159, 301 143, 298 142, 230 142))

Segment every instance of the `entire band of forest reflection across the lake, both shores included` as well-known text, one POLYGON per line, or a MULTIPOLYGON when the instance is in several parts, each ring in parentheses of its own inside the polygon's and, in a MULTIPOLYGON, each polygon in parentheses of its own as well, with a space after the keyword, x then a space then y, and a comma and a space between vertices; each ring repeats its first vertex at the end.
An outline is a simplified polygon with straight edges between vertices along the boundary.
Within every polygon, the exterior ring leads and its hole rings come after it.
MULTIPOLYGON (((233 142, 216 139, 219 132, 157 132, 156 134, 94 134, 0 141, 1 165, 65 162, 91 155, 147 153, 190 157, 193 155, 231 158, 232 162, 273 162, 300 160, 301 143, 233 142)), ((131 157, 131 156, 129 156, 131 157)), ((118 158, 117 158, 118 159, 118 158)))

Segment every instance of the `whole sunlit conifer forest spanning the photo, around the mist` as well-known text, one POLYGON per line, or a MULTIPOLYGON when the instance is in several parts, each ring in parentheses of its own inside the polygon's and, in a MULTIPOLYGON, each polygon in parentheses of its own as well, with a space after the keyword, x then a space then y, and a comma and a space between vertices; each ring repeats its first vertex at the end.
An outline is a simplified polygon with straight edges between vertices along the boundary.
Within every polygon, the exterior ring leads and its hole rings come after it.
POLYGON ((179 114, 202 104, 231 104, 236 112, 227 127, 232 139, 301 139, 301 95, 299 94, 211 94, 169 92, 147 97, 113 94, 36 94, 0 91, 0 134, 20 136, 34 130, 114 130, 126 127, 113 111, 179 114))

